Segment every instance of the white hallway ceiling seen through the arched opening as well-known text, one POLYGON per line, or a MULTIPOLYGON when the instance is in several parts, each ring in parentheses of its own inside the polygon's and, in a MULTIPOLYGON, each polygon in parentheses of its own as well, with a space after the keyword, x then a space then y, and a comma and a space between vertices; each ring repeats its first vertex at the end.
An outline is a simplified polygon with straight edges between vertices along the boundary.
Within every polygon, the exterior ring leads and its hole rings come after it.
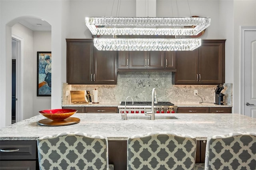
POLYGON ((33 30, 33 31, 51 31, 52 30, 52 26, 48 22, 41 19, 37 19, 37 18, 24 18, 20 20, 19 23, 28 27, 30 30, 33 30))

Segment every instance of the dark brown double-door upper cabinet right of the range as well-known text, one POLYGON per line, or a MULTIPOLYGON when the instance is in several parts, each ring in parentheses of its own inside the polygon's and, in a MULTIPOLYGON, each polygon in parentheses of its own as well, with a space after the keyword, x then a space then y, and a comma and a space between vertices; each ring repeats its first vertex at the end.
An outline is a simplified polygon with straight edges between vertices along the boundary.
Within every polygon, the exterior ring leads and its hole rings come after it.
POLYGON ((173 84, 223 84, 225 41, 202 40, 202 45, 193 51, 177 51, 173 84))

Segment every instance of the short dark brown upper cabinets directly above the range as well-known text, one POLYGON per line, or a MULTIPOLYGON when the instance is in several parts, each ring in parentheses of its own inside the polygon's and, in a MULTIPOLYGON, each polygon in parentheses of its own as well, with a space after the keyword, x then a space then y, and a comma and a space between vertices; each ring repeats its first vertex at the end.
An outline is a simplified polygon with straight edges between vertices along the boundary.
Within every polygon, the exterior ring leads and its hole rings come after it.
POLYGON ((175 70, 175 52, 172 51, 119 51, 118 71, 122 70, 175 70))

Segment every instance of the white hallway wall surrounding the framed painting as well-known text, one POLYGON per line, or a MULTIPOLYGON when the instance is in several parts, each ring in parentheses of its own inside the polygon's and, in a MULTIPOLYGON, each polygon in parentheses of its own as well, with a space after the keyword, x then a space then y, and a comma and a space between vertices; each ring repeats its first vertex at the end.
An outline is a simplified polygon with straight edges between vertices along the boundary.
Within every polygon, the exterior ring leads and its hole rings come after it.
MULTIPOLYGON (((51 31, 33 31, 33 110, 32 116, 38 115, 38 111, 51 109, 51 97, 49 96, 36 96, 37 87, 37 52, 38 51, 52 51, 52 34, 51 31)), ((52 56, 54 57, 54 56, 52 56)), ((31 107, 31 106, 30 106, 31 107)))

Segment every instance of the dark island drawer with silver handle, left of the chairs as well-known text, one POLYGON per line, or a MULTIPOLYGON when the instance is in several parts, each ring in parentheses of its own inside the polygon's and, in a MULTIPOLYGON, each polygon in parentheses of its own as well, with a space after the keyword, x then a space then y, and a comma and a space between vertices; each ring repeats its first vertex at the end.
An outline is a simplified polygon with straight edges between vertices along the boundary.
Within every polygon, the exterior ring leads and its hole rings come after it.
POLYGON ((36 141, 0 141, 0 160, 36 160, 36 141))

